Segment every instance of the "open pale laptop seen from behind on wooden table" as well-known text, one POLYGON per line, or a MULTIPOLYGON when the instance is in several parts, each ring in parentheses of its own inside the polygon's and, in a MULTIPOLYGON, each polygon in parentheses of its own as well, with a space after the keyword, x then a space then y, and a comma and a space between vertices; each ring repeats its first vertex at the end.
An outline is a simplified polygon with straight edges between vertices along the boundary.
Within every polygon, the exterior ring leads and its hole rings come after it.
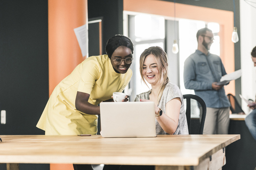
POLYGON ((102 102, 100 122, 103 138, 156 137, 153 101, 102 102))

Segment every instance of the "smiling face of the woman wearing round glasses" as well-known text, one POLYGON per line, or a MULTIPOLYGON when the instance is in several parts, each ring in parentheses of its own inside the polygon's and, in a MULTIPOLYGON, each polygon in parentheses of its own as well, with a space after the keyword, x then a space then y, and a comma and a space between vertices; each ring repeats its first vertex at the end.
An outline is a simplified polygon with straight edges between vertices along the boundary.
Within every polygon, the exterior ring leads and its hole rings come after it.
POLYGON ((110 58, 111 64, 115 72, 124 74, 128 71, 132 63, 126 64, 125 61, 122 60, 122 63, 118 65, 114 62, 116 58, 125 59, 127 57, 132 57, 132 50, 130 48, 125 46, 119 46, 116 48, 115 52, 112 54, 110 58))

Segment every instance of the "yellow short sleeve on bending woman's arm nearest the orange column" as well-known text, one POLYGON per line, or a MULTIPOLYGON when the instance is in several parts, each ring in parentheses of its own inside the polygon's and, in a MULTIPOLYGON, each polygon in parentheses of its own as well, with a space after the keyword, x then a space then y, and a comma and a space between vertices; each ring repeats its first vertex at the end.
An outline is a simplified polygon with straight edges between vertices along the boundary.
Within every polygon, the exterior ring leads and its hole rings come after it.
POLYGON ((101 69, 97 61, 89 60, 83 64, 81 79, 78 83, 77 91, 91 94, 95 81, 99 79, 101 69))

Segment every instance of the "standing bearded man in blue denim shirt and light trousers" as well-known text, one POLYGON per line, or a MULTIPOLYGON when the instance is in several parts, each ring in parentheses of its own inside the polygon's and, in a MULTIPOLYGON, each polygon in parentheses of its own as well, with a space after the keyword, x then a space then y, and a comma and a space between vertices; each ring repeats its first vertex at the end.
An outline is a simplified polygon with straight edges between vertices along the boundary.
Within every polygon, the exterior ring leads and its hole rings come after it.
POLYGON ((229 100, 223 85, 217 85, 226 73, 218 55, 209 53, 213 43, 212 30, 203 28, 196 34, 198 47, 184 63, 186 89, 195 90, 206 104, 204 134, 228 134, 229 100))

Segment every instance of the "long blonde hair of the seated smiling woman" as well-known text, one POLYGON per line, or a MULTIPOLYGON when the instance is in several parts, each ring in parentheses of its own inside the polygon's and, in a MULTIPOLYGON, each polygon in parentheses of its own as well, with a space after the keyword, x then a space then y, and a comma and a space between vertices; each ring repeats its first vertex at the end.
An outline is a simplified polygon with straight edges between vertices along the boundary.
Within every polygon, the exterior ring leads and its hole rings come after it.
POLYGON ((168 58, 167 54, 164 52, 164 50, 161 47, 155 46, 155 47, 149 47, 144 50, 144 52, 140 55, 140 75, 143 82, 146 83, 145 78, 143 77, 143 63, 148 55, 152 54, 157 63, 157 67, 160 73, 160 77, 158 81, 163 80, 161 90, 158 93, 157 97, 157 103, 159 103, 159 100, 161 99, 163 95, 164 88, 166 84, 169 82, 168 78, 168 58))

